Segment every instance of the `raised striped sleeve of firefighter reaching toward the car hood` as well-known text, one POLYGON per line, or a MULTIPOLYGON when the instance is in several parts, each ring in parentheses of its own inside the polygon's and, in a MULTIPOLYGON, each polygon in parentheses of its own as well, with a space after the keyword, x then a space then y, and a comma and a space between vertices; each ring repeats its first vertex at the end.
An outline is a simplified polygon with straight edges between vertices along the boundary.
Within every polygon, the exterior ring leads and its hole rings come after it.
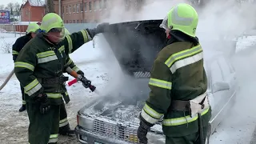
POLYGON ((77 33, 66 35, 66 38, 62 41, 62 46, 65 46, 65 53, 68 55, 90 40, 92 40, 90 34, 86 30, 81 30, 77 33))

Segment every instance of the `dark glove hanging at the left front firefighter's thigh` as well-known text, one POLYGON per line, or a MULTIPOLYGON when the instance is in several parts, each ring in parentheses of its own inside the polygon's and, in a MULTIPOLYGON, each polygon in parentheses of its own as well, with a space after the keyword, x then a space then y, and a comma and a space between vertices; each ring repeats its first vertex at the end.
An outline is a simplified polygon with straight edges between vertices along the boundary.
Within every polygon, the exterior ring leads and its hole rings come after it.
POLYGON ((40 103, 39 110, 41 114, 47 114, 50 111, 50 101, 46 94, 39 94, 36 102, 40 103))

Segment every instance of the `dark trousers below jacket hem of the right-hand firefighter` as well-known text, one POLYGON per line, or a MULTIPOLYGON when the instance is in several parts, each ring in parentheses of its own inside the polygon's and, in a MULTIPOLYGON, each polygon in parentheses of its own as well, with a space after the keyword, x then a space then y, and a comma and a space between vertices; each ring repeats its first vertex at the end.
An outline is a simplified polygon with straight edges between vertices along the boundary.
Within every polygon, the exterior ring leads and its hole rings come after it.
MULTIPOLYGON (((203 136, 206 140, 208 127, 203 127, 203 136)), ((186 135, 184 137, 167 137, 166 144, 201 144, 199 139, 199 132, 195 134, 186 135)))

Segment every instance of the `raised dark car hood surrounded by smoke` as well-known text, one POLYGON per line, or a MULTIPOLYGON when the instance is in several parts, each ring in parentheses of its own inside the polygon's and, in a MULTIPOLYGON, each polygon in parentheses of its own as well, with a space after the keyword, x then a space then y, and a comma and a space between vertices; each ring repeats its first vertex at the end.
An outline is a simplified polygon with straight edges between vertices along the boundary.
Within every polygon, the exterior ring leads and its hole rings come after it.
POLYGON ((150 77, 150 69, 166 41, 162 20, 122 22, 105 33, 122 71, 136 78, 150 77))

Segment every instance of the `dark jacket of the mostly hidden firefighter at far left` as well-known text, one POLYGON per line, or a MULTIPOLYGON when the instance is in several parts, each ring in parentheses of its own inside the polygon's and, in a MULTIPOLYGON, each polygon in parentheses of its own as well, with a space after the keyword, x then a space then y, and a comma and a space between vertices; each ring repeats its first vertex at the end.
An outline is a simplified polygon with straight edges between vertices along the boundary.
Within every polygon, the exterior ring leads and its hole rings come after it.
POLYGON ((13 54, 13 60, 15 62, 16 58, 18 57, 18 53, 22 50, 22 48, 26 45, 27 42, 30 41, 32 37, 30 34, 26 34, 20 38, 17 38, 16 42, 14 43, 12 47, 12 54, 13 54))

